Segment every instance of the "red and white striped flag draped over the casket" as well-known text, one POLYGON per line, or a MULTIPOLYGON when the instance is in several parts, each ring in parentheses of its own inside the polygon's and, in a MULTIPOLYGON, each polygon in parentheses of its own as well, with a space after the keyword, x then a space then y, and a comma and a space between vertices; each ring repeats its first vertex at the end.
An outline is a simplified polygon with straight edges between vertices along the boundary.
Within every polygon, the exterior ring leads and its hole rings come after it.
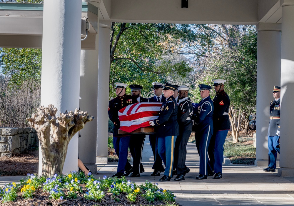
POLYGON ((133 132, 140 127, 149 127, 149 121, 157 119, 162 103, 136 103, 128 105, 118 111, 121 122, 119 129, 133 132))

